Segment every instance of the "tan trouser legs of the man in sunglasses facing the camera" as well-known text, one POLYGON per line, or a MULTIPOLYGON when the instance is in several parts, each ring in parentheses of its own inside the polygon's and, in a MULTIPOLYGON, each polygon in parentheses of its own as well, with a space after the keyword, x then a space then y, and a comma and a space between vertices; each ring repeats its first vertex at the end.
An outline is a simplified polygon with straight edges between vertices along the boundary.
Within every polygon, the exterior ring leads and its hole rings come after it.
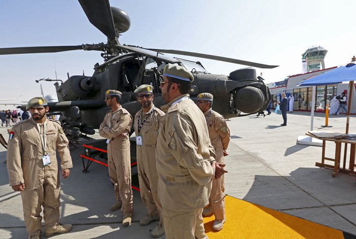
MULTIPOLYGON (((140 147, 140 146, 137 146, 140 147)), ((162 205, 158 199, 158 174, 156 163, 150 162, 147 155, 145 160, 137 158, 138 181, 140 183, 140 195, 144 206, 149 215, 160 217, 160 224, 163 225, 162 220, 162 205)), ((154 158, 153 160, 156 160, 154 158)))

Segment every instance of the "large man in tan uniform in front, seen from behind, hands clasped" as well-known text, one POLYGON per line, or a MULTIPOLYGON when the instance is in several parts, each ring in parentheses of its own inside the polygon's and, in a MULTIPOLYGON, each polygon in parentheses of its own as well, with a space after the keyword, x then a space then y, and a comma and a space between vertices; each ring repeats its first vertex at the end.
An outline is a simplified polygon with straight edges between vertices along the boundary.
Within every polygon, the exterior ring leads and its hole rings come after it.
POLYGON ((209 203, 212 179, 226 171, 216 163, 205 119, 189 98, 194 77, 168 64, 161 82, 166 112, 157 138, 158 195, 166 238, 207 238, 202 211, 209 203))

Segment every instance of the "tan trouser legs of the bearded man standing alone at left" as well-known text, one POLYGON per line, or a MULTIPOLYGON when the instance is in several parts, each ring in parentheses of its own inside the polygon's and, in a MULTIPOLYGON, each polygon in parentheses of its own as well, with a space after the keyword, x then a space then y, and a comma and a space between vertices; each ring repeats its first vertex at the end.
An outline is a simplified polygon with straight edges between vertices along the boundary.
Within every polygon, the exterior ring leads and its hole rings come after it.
POLYGON ((23 217, 29 234, 42 231, 41 206, 43 206, 45 229, 56 225, 60 219, 60 191, 60 188, 55 189, 52 185, 44 183, 38 189, 21 192, 23 217))

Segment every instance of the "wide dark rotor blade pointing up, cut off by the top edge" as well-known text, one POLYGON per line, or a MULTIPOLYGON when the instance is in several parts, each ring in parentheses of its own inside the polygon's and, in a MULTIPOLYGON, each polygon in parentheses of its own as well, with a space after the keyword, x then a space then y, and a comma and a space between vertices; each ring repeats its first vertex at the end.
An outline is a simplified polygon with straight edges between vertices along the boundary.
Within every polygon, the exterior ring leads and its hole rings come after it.
POLYGON ((109 0, 78 0, 89 21, 109 39, 115 39, 115 26, 109 0))

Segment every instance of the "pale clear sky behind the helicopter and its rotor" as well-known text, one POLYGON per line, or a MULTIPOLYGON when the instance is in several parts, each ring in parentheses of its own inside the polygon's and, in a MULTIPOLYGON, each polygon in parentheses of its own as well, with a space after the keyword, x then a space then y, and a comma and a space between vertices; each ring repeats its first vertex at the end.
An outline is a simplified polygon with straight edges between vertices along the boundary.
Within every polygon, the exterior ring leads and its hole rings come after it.
MULTIPOLYGON (((177 49, 269 65, 256 69, 266 83, 302 72, 301 55, 314 45, 329 52, 325 67, 348 63, 356 55, 356 1, 278 0, 111 0, 131 18, 131 28, 119 41, 147 48, 177 49)), ((77 1, 0 1, 0 47, 80 45, 106 42, 77 1)), ((245 66, 198 58, 217 74, 245 66)), ((92 75, 99 51, 0 56, 0 99, 28 100, 40 95, 40 78, 66 80, 92 75)), ((55 94, 42 83, 44 94, 55 94)), ((1 103, 1 102, 0 102, 1 103)), ((2 107, 0 106, 0 109, 2 107)))

